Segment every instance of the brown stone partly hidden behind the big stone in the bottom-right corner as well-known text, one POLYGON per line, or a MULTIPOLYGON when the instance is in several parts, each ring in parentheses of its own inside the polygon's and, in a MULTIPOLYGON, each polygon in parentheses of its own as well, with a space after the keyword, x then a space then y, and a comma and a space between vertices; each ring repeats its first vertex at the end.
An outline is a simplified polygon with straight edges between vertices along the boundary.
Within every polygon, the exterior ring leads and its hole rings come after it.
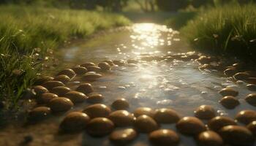
POLYGON ((236 126, 235 120, 229 117, 217 116, 208 121, 208 128, 213 131, 219 131, 224 126, 236 126))

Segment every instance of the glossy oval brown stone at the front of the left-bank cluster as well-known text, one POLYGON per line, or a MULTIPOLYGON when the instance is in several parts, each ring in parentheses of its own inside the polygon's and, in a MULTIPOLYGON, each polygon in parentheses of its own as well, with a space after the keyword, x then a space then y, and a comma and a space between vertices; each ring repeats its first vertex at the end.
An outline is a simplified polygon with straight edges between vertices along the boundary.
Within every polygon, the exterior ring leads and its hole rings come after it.
POLYGON ((48 105, 53 112, 64 112, 70 110, 74 106, 72 101, 64 97, 51 99, 48 105))

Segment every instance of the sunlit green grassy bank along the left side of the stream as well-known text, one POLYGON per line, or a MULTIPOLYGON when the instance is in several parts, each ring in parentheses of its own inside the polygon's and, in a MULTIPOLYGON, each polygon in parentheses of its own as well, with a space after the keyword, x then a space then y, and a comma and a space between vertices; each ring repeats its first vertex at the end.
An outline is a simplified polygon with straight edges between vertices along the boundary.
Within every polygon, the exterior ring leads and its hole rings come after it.
POLYGON ((0 7, 0 100, 14 106, 34 82, 40 62, 65 41, 129 24, 127 18, 85 10, 0 7))

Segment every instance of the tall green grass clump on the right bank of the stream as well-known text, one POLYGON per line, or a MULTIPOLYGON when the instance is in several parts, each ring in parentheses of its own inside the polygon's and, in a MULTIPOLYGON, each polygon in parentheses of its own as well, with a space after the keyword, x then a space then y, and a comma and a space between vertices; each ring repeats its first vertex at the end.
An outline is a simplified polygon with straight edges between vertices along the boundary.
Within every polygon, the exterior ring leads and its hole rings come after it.
POLYGON ((256 6, 225 5, 197 15, 181 32, 199 50, 256 61, 256 6))

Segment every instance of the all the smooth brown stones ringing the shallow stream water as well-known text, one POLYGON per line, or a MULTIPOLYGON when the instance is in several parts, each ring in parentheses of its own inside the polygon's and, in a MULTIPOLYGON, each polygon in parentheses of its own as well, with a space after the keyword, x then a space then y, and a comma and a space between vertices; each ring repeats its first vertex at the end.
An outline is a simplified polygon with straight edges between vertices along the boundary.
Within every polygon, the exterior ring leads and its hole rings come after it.
MULTIPOLYGON (((141 61, 190 61, 200 64, 199 69, 224 70, 227 77, 234 81, 243 80, 249 84, 250 91, 256 91, 256 72, 246 71, 242 64, 227 66, 220 64, 218 58, 196 53, 181 53, 166 56, 144 56, 141 61), (218 64, 212 64, 217 62, 218 64)), ((256 137, 256 111, 242 110, 237 113, 236 119, 217 116, 217 112, 209 105, 201 105, 195 109, 195 117, 181 117, 178 112, 170 108, 152 109, 138 107, 134 112, 128 112, 129 102, 126 99, 116 99, 110 105, 102 104, 104 96, 94 93, 90 83, 82 83, 72 91, 65 85, 75 76, 81 80, 93 82, 108 72, 111 66, 136 66, 138 60, 103 61, 99 64, 85 63, 72 69, 64 69, 56 77, 42 77, 37 80, 34 92, 37 94, 37 104, 29 112, 29 121, 40 121, 48 118, 51 112, 67 112, 75 104, 84 101, 90 103, 83 111, 69 112, 60 123, 60 131, 87 131, 92 137, 109 135, 114 145, 127 145, 139 133, 148 134, 152 145, 178 145, 178 133, 194 137, 198 145, 253 145, 256 137), (203 121, 207 123, 203 123, 203 121), (242 126, 238 126, 241 123, 242 126), (176 131, 161 128, 162 124, 176 124, 176 131), (121 128, 115 130, 115 128, 121 128)), ((240 103, 236 96, 238 91, 233 88, 223 88, 219 93, 223 98, 219 101, 227 109, 234 109, 240 103)), ((246 96, 246 102, 256 106, 256 93, 246 96)))

